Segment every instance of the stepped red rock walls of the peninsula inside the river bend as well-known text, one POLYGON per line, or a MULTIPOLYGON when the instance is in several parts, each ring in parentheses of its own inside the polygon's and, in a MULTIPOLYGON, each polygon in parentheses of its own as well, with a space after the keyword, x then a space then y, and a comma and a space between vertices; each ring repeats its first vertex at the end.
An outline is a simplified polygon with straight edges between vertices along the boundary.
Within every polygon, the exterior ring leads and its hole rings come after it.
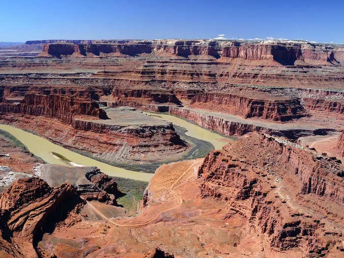
POLYGON ((175 155, 188 148, 172 123, 137 126, 102 123, 101 119, 108 118, 106 112, 91 100, 34 93, 26 94, 19 104, 1 100, 3 123, 108 161, 121 156, 140 161, 142 155, 148 160, 158 160, 161 155, 175 155))

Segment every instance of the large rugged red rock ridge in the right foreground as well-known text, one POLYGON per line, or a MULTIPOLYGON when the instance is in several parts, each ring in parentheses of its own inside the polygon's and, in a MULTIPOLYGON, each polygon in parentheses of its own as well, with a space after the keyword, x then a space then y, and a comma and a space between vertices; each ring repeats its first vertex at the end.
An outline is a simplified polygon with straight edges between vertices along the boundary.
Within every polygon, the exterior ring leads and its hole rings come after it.
POLYGON ((342 173, 331 159, 254 133, 209 153, 198 176, 204 198, 227 201, 270 246, 321 257, 341 248, 342 173))

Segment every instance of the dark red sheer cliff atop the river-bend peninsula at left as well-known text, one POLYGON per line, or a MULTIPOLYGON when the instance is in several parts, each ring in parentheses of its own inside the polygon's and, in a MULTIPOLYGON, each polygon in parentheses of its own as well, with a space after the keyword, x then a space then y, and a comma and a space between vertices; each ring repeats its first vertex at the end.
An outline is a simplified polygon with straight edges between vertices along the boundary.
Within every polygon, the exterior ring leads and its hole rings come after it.
POLYGON ((80 99, 61 95, 26 94, 19 104, 8 103, 2 98, 1 113, 21 115, 45 116, 57 118, 64 123, 71 124, 75 115, 90 115, 102 119, 107 118, 104 110, 98 104, 87 99, 80 99))

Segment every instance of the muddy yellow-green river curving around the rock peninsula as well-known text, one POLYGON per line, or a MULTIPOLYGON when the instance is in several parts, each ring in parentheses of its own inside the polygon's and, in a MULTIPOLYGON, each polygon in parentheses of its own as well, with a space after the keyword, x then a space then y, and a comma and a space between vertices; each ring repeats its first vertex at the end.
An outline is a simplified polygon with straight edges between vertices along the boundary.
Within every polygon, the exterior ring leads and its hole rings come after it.
MULTIPOLYGON (((214 145, 215 149, 222 148, 222 146, 228 143, 228 141, 226 141, 221 135, 213 133, 204 128, 201 128, 200 126, 189 123, 178 117, 175 117, 172 115, 166 115, 166 114, 158 114, 158 115, 150 114, 150 113, 147 113, 147 114, 161 117, 161 119, 170 121, 175 125, 184 127, 187 130, 186 133, 189 136, 201 139, 203 141, 208 141, 214 145)), ((31 153, 33 153, 37 157, 42 158, 45 162, 50 163, 50 164, 66 165, 66 161, 52 154, 52 152, 56 152, 62 155, 63 157, 67 158, 68 160, 70 160, 71 161, 71 163, 69 163, 70 166, 71 165, 96 166, 102 172, 111 176, 131 178, 131 179, 141 180, 141 181, 149 181, 150 178, 152 178, 152 176, 154 175, 153 173, 130 171, 130 170, 114 167, 100 161, 96 161, 94 159, 85 157, 76 152, 63 148, 42 137, 39 137, 37 135, 31 134, 29 132, 26 132, 24 130, 18 129, 10 125, 0 124, 0 129, 13 135, 20 142, 25 144, 31 153)))

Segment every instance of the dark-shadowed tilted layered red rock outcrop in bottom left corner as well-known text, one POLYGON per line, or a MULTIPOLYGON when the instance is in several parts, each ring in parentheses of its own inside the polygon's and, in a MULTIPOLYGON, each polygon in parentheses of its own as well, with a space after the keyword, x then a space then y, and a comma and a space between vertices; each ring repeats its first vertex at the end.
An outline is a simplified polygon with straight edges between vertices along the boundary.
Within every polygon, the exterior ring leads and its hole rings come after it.
POLYGON ((14 253, 37 257, 34 248, 43 228, 54 228, 66 214, 69 214, 67 224, 80 220, 75 211, 83 201, 75 191, 70 184, 51 188, 39 178, 25 178, 0 194, 0 210, 7 214, 1 221, 11 232, 7 241, 14 253))

